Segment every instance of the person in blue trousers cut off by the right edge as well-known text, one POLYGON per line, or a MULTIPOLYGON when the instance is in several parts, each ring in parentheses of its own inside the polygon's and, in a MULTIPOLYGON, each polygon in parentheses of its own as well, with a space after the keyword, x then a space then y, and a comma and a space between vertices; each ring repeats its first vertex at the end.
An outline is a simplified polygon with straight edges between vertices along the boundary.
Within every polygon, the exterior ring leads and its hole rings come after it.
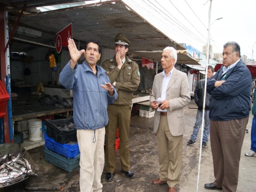
POLYGON ((256 104, 255 104, 255 98, 256 98, 256 90, 254 89, 254 103, 253 103, 253 122, 252 122, 252 128, 251 128, 251 148, 250 152, 245 153, 245 156, 248 157, 256 157, 256 104))

